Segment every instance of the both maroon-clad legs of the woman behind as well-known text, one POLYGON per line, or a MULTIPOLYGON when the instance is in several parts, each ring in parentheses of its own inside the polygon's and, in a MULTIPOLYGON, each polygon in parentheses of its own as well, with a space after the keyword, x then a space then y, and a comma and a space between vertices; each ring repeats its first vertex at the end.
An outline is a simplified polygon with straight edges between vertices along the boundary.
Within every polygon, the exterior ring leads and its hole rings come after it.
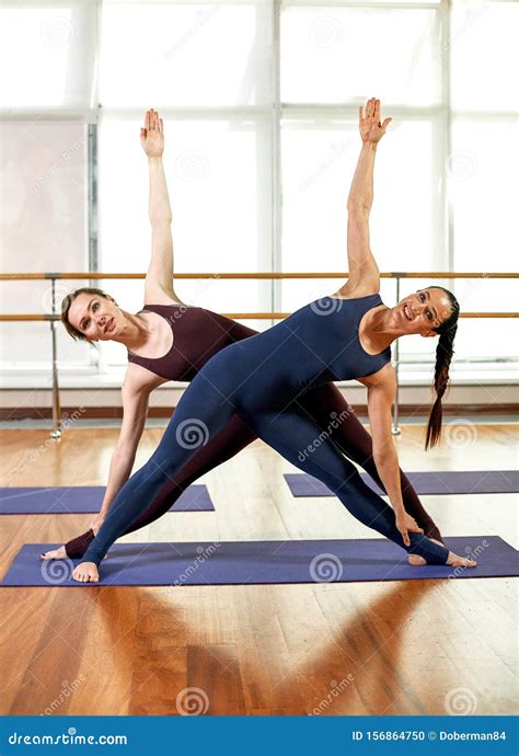
MULTIPOLYGON (((384 490, 372 457, 371 436, 336 386, 326 383, 312 389, 298 399, 298 404, 332 438, 346 457, 364 468, 380 488, 384 490)), ((188 485, 200 478, 200 476, 234 457, 235 454, 249 446, 255 438, 256 436, 242 423, 240 417, 234 415, 223 431, 206 446, 200 447, 200 450, 192 457, 181 472, 171 481, 171 495, 168 497, 168 501, 162 500, 159 505, 150 504, 130 527, 125 530, 125 534, 138 530, 161 517, 188 485)), ((440 531, 422 506, 416 491, 402 470, 400 471, 400 481, 406 512, 415 518, 426 536, 442 541, 440 531)), ((67 555, 71 559, 81 558, 93 538, 92 530, 89 530, 82 536, 68 541, 65 545, 67 555)))

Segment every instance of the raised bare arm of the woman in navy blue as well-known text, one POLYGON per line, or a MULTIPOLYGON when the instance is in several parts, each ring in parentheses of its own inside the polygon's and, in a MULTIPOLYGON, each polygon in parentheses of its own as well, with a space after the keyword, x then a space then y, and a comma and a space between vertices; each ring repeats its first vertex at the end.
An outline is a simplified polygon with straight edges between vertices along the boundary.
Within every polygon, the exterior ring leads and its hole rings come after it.
POLYGON ((348 196, 348 268, 349 278, 337 291, 344 297, 377 294, 380 274, 369 245, 369 214, 373 204, 373 167, 377 145, 385 134, 391 118, 380 123, 380 100, 368 100, 359 108, 359 131, 362 149, 348 196))

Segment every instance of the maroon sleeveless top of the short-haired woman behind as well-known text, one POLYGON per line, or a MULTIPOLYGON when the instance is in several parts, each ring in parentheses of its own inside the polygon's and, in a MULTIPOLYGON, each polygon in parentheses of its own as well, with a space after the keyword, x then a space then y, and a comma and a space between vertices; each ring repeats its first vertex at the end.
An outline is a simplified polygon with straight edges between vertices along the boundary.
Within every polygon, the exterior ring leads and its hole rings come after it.
POLYGON ((168 380, 193 380, 217 352, 257 333, 201 307, 146 305, 140 312, 157 312, 170 323, 173 346, 162 357, 140 357, 128 351, 128 362, 168 380))

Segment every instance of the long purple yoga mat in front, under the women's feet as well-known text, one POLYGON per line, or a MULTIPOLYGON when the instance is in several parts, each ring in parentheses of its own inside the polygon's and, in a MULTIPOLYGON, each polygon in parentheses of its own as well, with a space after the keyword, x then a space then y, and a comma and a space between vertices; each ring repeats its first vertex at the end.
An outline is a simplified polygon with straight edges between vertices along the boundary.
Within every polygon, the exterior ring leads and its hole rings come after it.
MULTIPOLYGON (((243 585, 399 581, 431 577, 497 577, 519 574, 518 552, 497 536, 447 538, 478 565, 413 568, 403 549, 383 538, 360 540, 116 543, 101 564, 101 585, 243 585)), ((42 562, 50 543, 27 543, 3 585, 77 586, 79 560, 42 562)))

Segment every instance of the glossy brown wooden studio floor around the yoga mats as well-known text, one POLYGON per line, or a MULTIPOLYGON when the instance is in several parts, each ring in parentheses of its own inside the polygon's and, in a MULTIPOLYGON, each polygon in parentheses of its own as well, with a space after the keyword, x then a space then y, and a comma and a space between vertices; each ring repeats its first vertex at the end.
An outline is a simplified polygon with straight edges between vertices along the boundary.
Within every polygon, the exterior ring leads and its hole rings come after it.
MULTIPOLYGON (((402 466, 517 466, 517 426, 464 428, 427 455, 423 428, 404 428, 402 466)), ((145 433, 137 467, 161 435, 145 433)), ((0 485, 103 485, 116 436, 73 427, 50 443, 46 431, 2 431, 0 485)), ((256 442, 201 479, 216 512, 168 514, 126 540, 373 537, 338 500, 293 500, 281 478, 290 470, 256 442)), ((423 501, 443 535, 498 535, 519 546, 514 494, 423 501)), ((1 574, 23 543, 62 542, 90 518, 1 517, 1 574)), ((480 579, 4 588, 0 713, 512 714, 515 587, 480 579)))

